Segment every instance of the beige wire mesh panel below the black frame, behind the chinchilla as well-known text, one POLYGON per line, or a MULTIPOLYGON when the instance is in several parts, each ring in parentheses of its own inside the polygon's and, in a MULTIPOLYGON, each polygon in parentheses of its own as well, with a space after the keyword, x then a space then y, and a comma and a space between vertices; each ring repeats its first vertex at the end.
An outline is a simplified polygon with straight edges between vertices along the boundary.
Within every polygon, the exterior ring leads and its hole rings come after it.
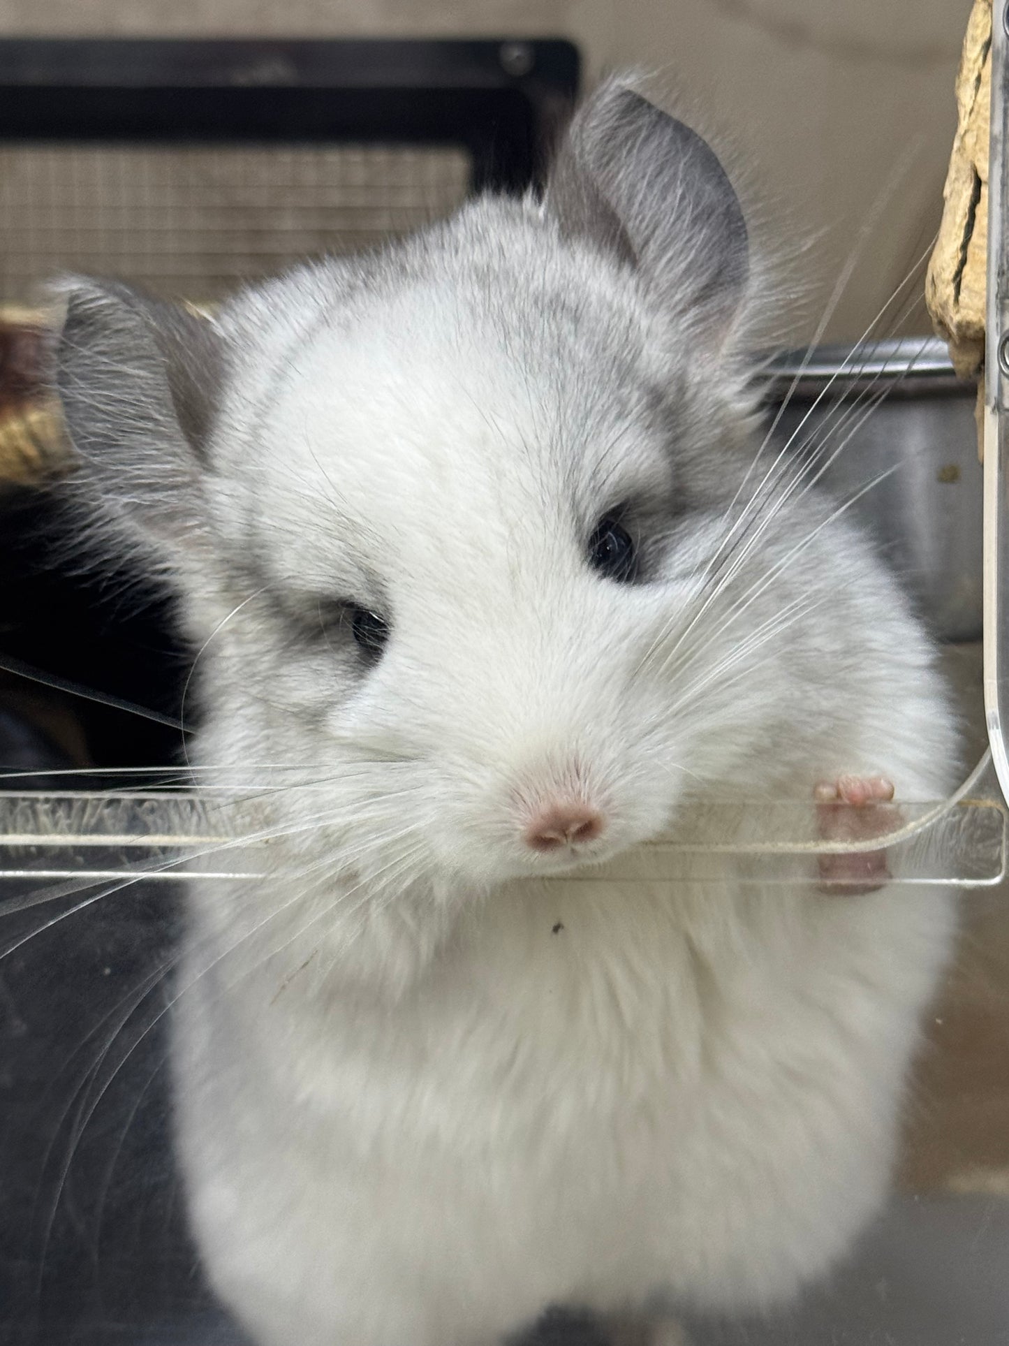
POLYGON ((456 147, 8 141, 0 303, 30 300, 66 269, 213 300, 448 214, 470 171, 456 147))

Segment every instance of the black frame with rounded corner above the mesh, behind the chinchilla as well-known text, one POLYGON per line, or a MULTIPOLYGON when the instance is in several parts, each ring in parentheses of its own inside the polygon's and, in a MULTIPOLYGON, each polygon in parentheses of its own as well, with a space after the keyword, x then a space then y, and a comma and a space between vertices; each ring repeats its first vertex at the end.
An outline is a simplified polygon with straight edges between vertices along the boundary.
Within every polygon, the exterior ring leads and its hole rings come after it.
POLYGON ((564 39, 0 40, 0 141, 455 144, 533 182, 578 87, 564 39))

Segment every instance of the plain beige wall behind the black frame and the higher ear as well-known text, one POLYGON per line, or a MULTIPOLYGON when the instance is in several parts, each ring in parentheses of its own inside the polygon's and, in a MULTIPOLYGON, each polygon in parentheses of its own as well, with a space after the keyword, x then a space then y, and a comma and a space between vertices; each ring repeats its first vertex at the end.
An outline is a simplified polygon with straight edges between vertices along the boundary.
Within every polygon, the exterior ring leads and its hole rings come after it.
MULTIPOLYGON (((829 328, 845 338, 938 225, 967 12, 969 0, 0 0, 0 34, 570 36, 589 77, 642 65, 728 136, 806 288, 796 334, 885 198, 829 328)), ((927 327, 920 311, 911 326, 927 327)))

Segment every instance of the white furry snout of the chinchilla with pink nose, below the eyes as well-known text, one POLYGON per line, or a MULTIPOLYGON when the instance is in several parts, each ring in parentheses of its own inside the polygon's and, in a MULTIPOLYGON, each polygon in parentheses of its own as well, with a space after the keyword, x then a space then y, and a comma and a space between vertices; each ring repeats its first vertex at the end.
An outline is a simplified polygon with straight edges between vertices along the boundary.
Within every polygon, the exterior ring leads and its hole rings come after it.
POLYGON ((584 588, 564 615, 541 595, 521 622, 404 616, 362 697, 354 738, 422 763, 426 844, 452 871, 490 883, 553 872, 669 820, 677 731, 662 684, 640 670, 654 622, 611 586, 584 588))

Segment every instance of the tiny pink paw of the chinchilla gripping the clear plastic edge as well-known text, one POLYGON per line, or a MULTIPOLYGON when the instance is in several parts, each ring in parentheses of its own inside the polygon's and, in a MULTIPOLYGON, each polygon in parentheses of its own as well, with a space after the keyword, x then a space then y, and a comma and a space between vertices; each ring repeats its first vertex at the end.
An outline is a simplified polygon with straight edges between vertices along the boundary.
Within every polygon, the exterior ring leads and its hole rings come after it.
MULTIPOLYGON (((885 777, 839 775, 813 790, 819 833, 827 841, 865 841, 889 832, 897 810, 891 808, 893 785, 885 777)), ((819 857, 821 888, 854 895, 873 892, 889 879, 885 851, 858 851, 819 857)))

